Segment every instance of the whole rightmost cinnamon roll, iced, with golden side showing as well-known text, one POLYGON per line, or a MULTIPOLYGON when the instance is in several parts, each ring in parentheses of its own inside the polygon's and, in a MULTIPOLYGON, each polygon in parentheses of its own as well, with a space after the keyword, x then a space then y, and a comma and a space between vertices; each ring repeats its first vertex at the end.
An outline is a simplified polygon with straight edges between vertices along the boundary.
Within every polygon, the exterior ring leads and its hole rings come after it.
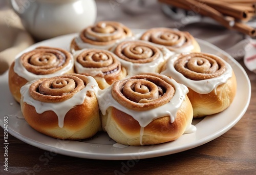
POLYGON ((216 55, 177 54, 166 62, 161 74, 188 87, 194 117, 224 111, 236 95, 236 76, 231 66, 216 55))

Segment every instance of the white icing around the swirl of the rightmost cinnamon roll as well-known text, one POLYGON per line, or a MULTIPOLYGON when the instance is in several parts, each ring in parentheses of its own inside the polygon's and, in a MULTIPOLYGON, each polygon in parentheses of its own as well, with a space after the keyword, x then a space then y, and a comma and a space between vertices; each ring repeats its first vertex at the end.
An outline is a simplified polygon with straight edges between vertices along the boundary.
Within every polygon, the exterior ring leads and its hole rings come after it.
MULTIPOLYGON (((209 55, 212 55, 212 54, 209 54, 209 55)), ((179 54, 174 55, 169 60, 167 60, 166 70, 161 72, 161 74, 174 78, 175 80, 179 81, 179 83, 186 85, 188 88, 192 89, 193 91, 199 94, 208 94, 213 90, 215 91, 215 94, 216 94, 217 93, 216 88, 218 87, 218 85, 226 83, 227 80, 232 77, 231 66, 225 60, 222 59, 222 61, 225 63, 225 66, 226 66, 226 71, 222 75, 215 78, 211 78, 211 79, 205 79, 205 80, 188 79, 184 75, 179 73, 174 67, 174 62, 178 59, 178 56, 179 54)))

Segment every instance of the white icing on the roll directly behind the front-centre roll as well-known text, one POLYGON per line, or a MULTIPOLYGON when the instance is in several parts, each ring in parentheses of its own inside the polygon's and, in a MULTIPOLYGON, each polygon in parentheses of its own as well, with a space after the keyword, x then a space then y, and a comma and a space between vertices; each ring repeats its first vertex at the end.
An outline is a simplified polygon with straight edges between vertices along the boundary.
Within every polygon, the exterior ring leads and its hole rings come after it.
MULTIPOLYGON (((127 40, 127 41, 129 41, 129 40, 127 40)), ((130 61, 123 60, 123 59, 119 58, 118 56, 116 56, 117 59, 121 62, 122 66, 127 69, 128 76, 138 75, 138 74, 142 74, 145 72, 146 73, 156 73, 159 64, 166 61, 169 57, 174 55, 173 52, 170 52, 164 46, 156 45, 154 43, 151 43, 148 41, 143 41, 143 40, 139 40, 139 42, 145 42, 148 45, 157 47, 161 51, 160 56, 159 56, 159 58, 155 59, 154 61, 147 62, 147 63, 133 63, 130 61)), ((112 52, 114 52, 117 45, 115 45, 115 47, 113 49, 111 49, 112 52)))

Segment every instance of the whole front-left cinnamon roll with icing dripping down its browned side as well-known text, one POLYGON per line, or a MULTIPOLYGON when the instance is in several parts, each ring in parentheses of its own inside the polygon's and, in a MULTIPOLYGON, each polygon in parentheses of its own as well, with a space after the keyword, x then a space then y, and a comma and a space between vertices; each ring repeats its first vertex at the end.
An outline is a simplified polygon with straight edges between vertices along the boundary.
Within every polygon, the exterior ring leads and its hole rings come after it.
POLYGON ((58 139, 86 139, 101 128, 97 82, 79 74, 41 78, 20 90, 25 120, 38 132, 58 139))

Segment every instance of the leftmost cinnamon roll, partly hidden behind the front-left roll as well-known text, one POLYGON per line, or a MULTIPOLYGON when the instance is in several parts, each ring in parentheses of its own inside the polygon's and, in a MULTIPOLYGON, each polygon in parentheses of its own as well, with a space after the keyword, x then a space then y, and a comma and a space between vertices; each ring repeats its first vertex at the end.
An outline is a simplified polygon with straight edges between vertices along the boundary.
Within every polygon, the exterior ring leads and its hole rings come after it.
POLYGON ((9 89, 20 102, 20 88, 28 81, 74 73, 73 56, 66 50, 38 47, 18 57, 9 70, 9 89))

